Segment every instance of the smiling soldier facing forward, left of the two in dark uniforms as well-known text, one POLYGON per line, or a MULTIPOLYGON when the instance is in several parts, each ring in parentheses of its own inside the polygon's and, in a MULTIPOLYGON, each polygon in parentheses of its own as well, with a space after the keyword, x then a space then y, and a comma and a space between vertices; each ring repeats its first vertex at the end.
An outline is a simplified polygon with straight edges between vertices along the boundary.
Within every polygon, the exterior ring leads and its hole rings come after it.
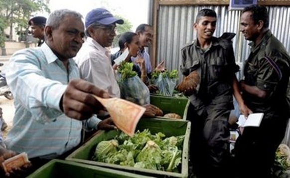
POLYGON ((192 122, 190 160, 195 174, 204 178, 228 176, 228 119, 234 109, 233 94, 240 111, 245 115, 249 112, 235 75, 239 70, 232 46, 235 34, 213 37, 215 26, 216 12, 200 10, 194 23, 197 39, 181 49, 183 74, 188 76, 197 71, 200 76, 199 89, 189 96, 192 104, 189 108, 192 122))

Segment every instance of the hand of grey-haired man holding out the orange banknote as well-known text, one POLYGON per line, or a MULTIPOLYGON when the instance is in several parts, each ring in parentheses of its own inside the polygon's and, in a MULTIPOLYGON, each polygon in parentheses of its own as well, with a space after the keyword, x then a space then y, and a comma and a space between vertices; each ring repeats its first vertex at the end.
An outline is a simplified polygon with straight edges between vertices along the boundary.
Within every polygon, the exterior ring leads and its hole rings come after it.
POLYGON ((110 98, 109 93, 90 82, 81 79, 71 80, 63 94, 62 103, 60 103, 64 114, 70 118, 84 120, 104 109, 104 106, 92 94, 110 98))

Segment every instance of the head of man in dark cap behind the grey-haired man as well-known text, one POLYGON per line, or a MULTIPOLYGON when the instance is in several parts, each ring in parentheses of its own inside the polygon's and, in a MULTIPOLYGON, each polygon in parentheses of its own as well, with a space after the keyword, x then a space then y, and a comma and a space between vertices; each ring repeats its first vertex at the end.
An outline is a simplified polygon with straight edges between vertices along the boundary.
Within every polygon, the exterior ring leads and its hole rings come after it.
POLYGON ((44 16, 35 16, 30 18, 28 24, 30 26, 30 32, 34 38, 38 38, 38 46, 44 42, 44 27, 46 18, 44 16))

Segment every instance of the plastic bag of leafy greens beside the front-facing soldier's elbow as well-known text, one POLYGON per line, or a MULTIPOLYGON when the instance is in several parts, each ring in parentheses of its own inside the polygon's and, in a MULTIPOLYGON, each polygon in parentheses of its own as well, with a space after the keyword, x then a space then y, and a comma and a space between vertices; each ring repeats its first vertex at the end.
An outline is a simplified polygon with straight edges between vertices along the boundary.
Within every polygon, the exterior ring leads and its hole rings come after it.
POLYGON ((158 94, 164 96, 173 96, 173 92, 177 83, 178 72, 154 71, 152 73, 151 83, 158 87, 158 94))

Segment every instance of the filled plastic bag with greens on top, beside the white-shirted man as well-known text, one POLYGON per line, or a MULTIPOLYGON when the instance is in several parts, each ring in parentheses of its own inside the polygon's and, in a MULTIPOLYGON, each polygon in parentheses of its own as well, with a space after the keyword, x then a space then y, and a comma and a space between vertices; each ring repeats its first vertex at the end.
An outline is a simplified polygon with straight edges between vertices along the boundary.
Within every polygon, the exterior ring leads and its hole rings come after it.
POLYGON ((117 81, 121 91, 121 98, 139 105, 150 103, 150 92, 145 83, 133 71, 132 62, 122 62, 119 65, 117 81))

